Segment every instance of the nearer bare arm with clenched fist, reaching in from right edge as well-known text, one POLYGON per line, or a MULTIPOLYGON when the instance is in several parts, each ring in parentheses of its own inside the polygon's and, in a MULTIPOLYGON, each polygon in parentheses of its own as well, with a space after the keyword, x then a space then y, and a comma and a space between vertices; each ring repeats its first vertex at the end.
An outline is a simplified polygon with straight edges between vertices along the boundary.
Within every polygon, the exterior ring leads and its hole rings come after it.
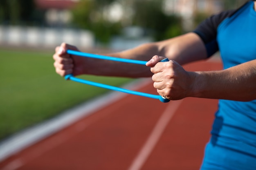
MULTIPOLYGON (((159 61, 158 56, 153 60, 159 61)), ((256 60, 222 71, 187 72, 175 61, 156 62, 152 79, 159 95, 250 101, 256 99, 256 60)))

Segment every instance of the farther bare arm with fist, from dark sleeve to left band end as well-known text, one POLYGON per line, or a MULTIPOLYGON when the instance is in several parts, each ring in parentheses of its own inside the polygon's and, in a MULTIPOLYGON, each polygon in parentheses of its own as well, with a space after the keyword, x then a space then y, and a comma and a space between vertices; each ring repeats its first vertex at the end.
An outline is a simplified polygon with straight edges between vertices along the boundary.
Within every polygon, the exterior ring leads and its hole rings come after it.
MULTIPOLYGON (((56 72, 62 76, 69 73, 122 77, 152 76, 150 68, 146 66, 67 55, 65 51, 70 48, 74 49, 75 47, 62 44, 61 47, 56 48, 56 53, 53 56, 56 72)), ((180 64, 207 58, 204 44, 195 33, 187 33, 176 38, 147 43, 126 51, 103 55, 143 61, 150 60, 154 55, 160 55, 180 64)))

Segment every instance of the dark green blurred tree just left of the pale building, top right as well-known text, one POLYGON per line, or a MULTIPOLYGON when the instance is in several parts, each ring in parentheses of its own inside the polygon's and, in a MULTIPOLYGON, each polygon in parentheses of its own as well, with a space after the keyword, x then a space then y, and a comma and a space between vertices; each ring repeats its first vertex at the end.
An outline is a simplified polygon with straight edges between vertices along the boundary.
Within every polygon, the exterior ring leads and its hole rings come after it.
POLYGON ((133 4, 132 24, 150 30, 155 40, 171 38, 182 33, 181 20, 163 12, 163 0, 137 0, 133 4))

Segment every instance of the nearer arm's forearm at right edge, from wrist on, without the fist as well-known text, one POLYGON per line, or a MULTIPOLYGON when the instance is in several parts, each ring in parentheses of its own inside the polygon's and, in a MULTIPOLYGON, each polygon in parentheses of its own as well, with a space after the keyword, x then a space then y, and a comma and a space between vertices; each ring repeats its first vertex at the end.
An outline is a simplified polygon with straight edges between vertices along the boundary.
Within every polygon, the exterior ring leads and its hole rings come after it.
POLYGON ((191 97, 250 101, 256 99, 256 60, 223 71, 191 73, 191 97))

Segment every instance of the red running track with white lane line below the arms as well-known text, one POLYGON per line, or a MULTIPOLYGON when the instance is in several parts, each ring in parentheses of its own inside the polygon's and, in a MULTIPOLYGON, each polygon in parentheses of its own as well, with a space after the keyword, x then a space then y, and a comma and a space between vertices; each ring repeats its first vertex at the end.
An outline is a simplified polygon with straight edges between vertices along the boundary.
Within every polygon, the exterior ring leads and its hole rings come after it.
MULTIPOLYGON (((222 68, 219 60, 185 66, 222 68)), ((152 82, 140 91, 154 93, 152 82)), ((127 95, 12 155, 0 170, 198 170, 218 100, 127 95)))

